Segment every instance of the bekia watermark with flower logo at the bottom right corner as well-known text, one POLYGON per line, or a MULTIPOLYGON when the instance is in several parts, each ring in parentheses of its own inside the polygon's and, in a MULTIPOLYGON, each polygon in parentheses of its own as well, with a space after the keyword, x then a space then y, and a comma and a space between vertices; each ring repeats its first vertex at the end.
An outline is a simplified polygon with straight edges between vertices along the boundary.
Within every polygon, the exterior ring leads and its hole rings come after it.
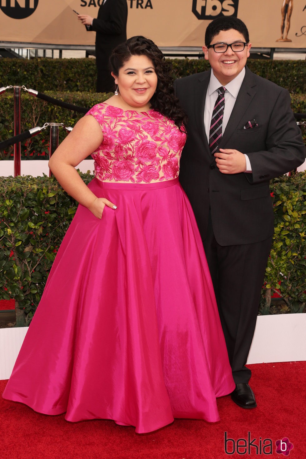
MULTIPOLYGON (((276 444, 276 453, 284 454, 288 456, 290 450, 293 448, 293 444, 289 442, 287 437, 282 440, 277 440, 276 444)), ((251 433, 248 432, 248 438, 228 438, 228 433, 224 432, 224 451, 226 454, 265 454, 269 455, 273 453, 273 441, 271 438, 252 438, 251 433)))

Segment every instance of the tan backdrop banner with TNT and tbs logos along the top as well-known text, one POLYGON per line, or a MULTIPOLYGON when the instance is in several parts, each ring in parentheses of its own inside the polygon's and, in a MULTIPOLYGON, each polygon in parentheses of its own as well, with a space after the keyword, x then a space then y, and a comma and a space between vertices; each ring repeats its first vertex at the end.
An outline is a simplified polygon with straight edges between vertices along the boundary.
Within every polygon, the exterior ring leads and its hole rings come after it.
MULTIPOLYGON (((111 1, 111 0, 107 0, 111 1)), ((202 46, 207 24, 242 19, 255 47, 305 48, 306 0, 127 0, 128 36, 159 46, 202 46)), ((0 0, 0 41, 93 45, 73 10, 96 17, 102 0, 0 0)))

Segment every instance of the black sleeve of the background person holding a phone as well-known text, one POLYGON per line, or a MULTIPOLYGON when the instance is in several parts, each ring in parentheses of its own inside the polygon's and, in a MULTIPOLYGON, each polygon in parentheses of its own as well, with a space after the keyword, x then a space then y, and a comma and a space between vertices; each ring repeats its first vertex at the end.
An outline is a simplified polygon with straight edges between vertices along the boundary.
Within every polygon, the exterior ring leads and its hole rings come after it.
POLYGON ((127 4, 126 1, 112 0, 111 10, 108 15, 108 20, 103 17, 96 18, 92 22, 91 30, 100 32, 101 34, 120 35, 125 31, 127 26, 127 4))

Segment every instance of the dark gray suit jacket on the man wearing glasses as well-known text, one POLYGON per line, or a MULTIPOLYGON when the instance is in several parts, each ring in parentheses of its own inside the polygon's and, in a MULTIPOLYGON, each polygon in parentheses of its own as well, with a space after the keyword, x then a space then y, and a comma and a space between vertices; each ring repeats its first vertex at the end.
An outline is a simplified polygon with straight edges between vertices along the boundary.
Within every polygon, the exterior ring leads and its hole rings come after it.
POLYGON ((214 235, 221 246, 250 244, 273 234, 269 180, 298 167, 305 146, 287 90, 245 67, 245 78, 224 131, 220 148, 246 153, 252 174, 222 174, 208 146, 204 106, 210 71, 177 79, 176 95, 187 112, 187 141, 180 182, 193 207, 203 239, 209 208, 214 235), (255 119, 258 127, 244 129, 255 119))

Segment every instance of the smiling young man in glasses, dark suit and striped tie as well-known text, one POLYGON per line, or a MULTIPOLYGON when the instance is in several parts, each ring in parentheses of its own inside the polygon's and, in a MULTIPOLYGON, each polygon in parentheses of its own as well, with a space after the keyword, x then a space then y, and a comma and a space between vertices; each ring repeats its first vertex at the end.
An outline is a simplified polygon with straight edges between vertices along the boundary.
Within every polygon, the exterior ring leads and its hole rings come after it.
POLYGON ((269 180, 305 160, 289 93, 245 67, 250 47, 242 21, 217 18, 203 46, 211 70, 174 84, 188 115, 180 182, 211 270, 236 383, 232 399, 243 408, 256 407, 245 363, 273 236, 269 180))

